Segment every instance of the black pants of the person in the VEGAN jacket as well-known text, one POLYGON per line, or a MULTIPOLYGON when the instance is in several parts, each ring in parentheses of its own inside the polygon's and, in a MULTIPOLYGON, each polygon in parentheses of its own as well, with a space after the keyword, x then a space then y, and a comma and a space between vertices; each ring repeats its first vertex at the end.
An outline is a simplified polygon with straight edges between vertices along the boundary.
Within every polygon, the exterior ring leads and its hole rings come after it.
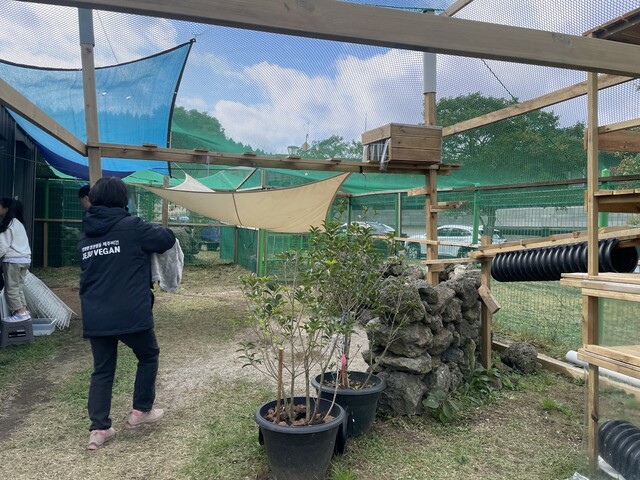
POLYGON ((89 430, 106 430, 111 427, 111 391, 118 359, 118 341, 128 346, 138 358, 136 382, 133 390, 133 408, 148 412, 156 398, 156 376, 160 348, 153 328, 144 332, 92 337, 93 374, 89 387, 89 430))

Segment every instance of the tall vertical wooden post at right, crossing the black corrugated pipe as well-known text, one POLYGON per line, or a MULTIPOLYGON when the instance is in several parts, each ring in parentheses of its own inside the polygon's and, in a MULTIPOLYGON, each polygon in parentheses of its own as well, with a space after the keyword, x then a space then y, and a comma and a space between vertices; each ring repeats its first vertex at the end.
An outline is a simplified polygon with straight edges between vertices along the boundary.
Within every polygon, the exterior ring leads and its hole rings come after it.
MULTIPOLYGON (((587 79, 587 271, 589 275, 598 275, 598 203, 595 196, 598 190, 598 74, 589 72, 587 79)), ((597 297, 583 297, 582 300, 582 341, 584 344, 598 343, 598 305, 597 297)), ((598 421, 599 421, 599 367, 589 364, 587 395, 587 452, 589 468, 598 469, 598 421)))

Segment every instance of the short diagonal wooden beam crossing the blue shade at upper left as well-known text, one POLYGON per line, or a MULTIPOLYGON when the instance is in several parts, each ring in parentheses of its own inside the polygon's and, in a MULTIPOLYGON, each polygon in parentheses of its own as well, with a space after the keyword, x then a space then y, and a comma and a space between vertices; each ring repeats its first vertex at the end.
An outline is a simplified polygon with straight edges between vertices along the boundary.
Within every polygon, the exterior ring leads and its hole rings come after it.
POLYGON ((60 140, 80 155, 87 156, 87 146, 73 133, 64 128, 35 103, 28 100, 15 88, 0 78, 0 104, 20 114, 49 135, 60 140))

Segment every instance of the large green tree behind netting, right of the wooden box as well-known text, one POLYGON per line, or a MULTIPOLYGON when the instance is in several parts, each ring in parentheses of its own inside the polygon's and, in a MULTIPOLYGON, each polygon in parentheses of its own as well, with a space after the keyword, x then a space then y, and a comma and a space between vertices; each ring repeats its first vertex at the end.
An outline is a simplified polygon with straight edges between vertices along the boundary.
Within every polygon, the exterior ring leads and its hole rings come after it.
MULTIPOLYGON (((517 100, 472 93, 438 102, 438 122, 446 127, 490 113, 517 100)), ((560 127, 551 112, 532 111, 445 137, 443 161, 462 164, 469 183, 488 185, 584 177, 584 125, 560 127)), ((458 173, 456 173, 458 175, 458 173)))

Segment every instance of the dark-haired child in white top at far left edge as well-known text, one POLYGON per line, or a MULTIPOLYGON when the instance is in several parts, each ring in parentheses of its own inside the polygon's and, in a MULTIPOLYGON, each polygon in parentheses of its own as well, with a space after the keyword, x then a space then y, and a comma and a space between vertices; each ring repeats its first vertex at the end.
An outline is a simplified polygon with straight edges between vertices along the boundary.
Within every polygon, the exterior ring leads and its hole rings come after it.
POLYGON ((0 258, 4 276, 5 299, 11 316, 5 322, 23 322, 31 318, 24 298, 24 280, 31 265, 31 248, 24 229, 22 203, 13 198, 0 199, 0 258))

